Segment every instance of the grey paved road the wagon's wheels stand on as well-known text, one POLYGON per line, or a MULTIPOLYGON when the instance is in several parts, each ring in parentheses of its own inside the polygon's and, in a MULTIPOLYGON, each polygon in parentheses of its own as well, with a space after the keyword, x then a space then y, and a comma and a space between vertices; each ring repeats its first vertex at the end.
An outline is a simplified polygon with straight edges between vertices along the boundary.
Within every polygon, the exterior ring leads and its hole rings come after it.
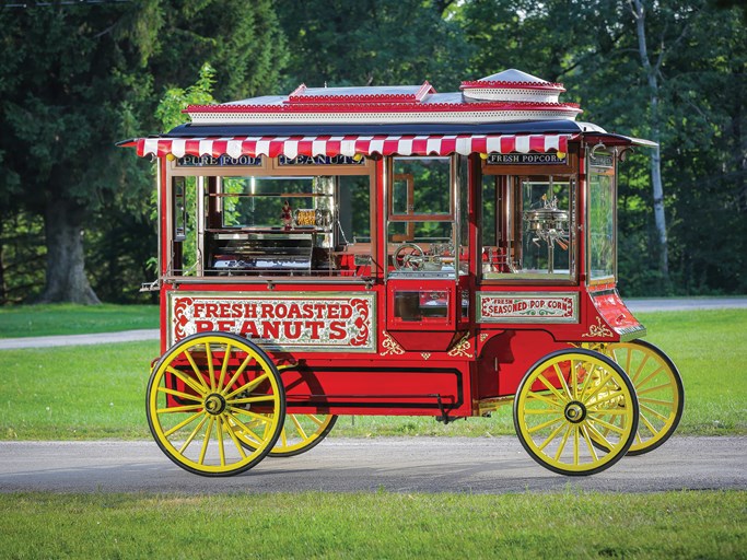
POLYGON ((747 438, 673 438, 591 477, 537 465, 515 436, 336 439, 229 478, 191 475, 154 442, 0 442, 0 492, 747 490, 747 438))

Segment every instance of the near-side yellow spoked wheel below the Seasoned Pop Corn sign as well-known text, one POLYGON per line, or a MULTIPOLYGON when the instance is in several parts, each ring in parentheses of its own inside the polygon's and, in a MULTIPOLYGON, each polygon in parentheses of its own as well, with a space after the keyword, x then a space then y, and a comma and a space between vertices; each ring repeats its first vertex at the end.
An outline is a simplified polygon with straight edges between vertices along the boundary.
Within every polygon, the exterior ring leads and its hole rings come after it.
POLYGON ((522 445, 537 463, 561 475, 593 475, 620 460, 633 443, 638 416, 625 371, 584 349, 559 350, 539 360, 514 399, 522 445))

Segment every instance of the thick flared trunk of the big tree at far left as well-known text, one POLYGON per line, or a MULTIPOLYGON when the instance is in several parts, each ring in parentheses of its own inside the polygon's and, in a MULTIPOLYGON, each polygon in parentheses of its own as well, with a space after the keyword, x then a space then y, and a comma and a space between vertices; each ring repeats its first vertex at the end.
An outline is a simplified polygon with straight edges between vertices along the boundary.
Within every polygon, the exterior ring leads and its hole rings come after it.
POLYGON ((74 202, 54 197, 47 202, 47 280, 38 303, 101 303, 85 276, 83 215, 83 208, 74 202))

